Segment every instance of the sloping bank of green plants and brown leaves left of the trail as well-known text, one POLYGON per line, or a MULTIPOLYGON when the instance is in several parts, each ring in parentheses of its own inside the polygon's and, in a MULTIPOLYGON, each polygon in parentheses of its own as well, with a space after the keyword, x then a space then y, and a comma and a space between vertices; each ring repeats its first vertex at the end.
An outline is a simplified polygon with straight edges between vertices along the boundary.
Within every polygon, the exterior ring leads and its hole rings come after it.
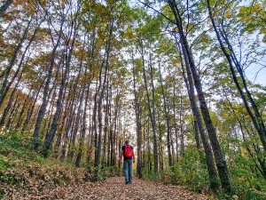
MULTIPOLYGON (((0 199, 13 193, 29 196, 61 185, 82 184, 98 180, 95 174, 73 164, 61 163, 50 156, 44 158, 32 149, 27 132, 0 134, 0 199), (85 175, 87 180, 85 180, 85 175)), ((101 175, 104 180, 104 175, 101 175)), ((21 196, 22 197, 22 196, 21 196)))

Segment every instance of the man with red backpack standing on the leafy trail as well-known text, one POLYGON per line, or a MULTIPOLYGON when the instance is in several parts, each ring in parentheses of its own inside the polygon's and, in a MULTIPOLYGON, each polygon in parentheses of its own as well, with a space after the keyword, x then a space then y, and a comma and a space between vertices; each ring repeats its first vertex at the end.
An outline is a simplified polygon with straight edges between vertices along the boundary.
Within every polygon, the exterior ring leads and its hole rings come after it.
POLYGON ((121 156, 124 157, 124 177, 126 184, 132 183, 132 162, 135 163, 135 156, 133 152, 133 147, 129 145, 129 141, 125 141, 125 145, 121 148, 121 156))

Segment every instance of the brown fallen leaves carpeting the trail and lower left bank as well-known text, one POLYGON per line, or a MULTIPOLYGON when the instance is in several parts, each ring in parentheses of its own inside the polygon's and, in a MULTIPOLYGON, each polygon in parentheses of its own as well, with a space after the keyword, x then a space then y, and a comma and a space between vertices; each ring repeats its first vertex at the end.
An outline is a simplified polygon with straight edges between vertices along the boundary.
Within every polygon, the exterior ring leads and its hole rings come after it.
POLYGON ((24 170, 9 170, 2 176, 11 180, 0 182, 4 199, 91 199, 91 200, 207 200, 182 186, 135 178, 126 185, 123 177, 105 181, 84 181, 84 170, 43 169, 36 164, 24 170))

